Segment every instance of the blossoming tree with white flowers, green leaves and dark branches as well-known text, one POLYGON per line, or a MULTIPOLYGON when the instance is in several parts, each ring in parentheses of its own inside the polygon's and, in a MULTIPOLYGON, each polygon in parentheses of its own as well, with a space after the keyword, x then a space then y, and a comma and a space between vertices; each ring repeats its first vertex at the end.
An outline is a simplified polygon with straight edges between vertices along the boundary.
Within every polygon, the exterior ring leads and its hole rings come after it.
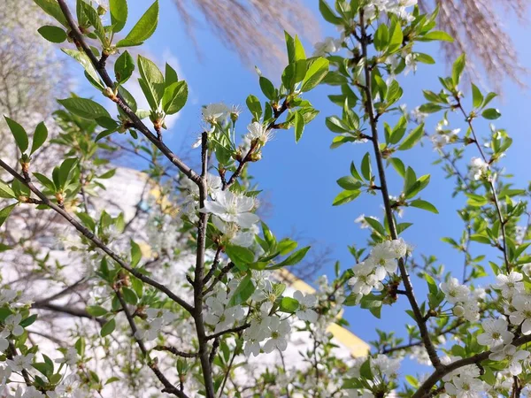
MULTIPOLYGON (((412 114, 398 106, 403 88, 396 77, 416 71, 419 63, 434 63, 416 51, 417 42, 451 40, 435 30, 436 11, 420 13, 415 0, 337 0, 334 7, 321 0, 323 18, 338 27, 341 36, 318 43, 312 57, 307 57, 298 38, 285 35, 288 65, 281 84, 275 86, 258 73, 260 96, 266 101, 254 95, 246 98, 252 120, 242 137, 239 107, 204 106, 194 168, 164 139, 165 118, 187 102, 186 81, 179 80, 171 65, 165 65, 163 73, 147 57, 135 60, 127 51, 155 31, 158 0, 120 40, 115 36, 126 26, 126 0, 111 0, 108 11, 78 0, 75 17, 65 0, 35 3, 55 20, 53 26, 39 29, 43 38, 73 44, 65 44, 65 53, 79 61, 89 83, 101 93, 101 102, 116 104, 117 115, 92 99, 59 100, 65 110, 58 112, 57 122, 64 134, 54 142, 70 150, 53 170, 42 171, 34 169, 31 158, 49 141, 47 127, 41 123, 35 133, 27 134, 25 120, 6 115, 19 162, 10 165, 0 160, 10 180, 0 183, 0 195, 6 200, 0 224, 15 207, 31 206, 56 213, 79 233, 76 249, 93 265, 88 279, 93 292, 85 312, 77 315, 92 318, 101 327, 98 336, 73 328, 72 338, 59 348, 61 355, 54 362, 28 340, 27 327, 37 318, 31 298, 3 285, 1 396, 104 396, 112 383, 132 394, 143 391, 142 396, 148 393, 138 384, 146 383, 160 394, 181 398, 383 397, 395 390, 412 397, 522 393, 529 380, 526 345, 531 341, 527 191, 506 182, 508 176, 499 166, 512 144, 508 134, 492 126, 489 137, 482 140, 475 125, 476 119, 501 116, 489 107, 496 95, 485 95, 473 85, 471 98, 464 96, 460 77, 466 57, 462 56, 451 76, 440 79, 442 88, 424 91, 427 103, 412 114), (102 19, 105 14, 110 18, 102 19), (123 86, 135 70, 149 110, 138 109, 135 97, 123 86), (351 269, 340 272, 337 267, 331 282, 319 279, 317 295, 289 296, 285 284, 271 274, 298 264, 310 248, 297 249, 296 241, 289 238, 277 240, 261 222, 259 191, 248 173, 276 130, 292 128, 296 142, 302 139, 304 126, 318 113, 305 96, 319 84, 338 88, 330 99, 340 106, 341 116, 326 119, 327 127, 337 134, 332 148, 349 142, 367 147, 361 162, 353 161, 348 174, 337 180, 342 191, 333 204, 373 195, 383 203, 384 219, 359 219, 370 228, 369 248, 350 248, 355 263, 351 269), (441 122, 429 135, 423 120, 438 112, 443 112, 441 122), (449 127, 451 112, 462 116, 466 133, 449 127), (119 134, 131 137, 127 145, 134 151, 142 149, 149 155, 145 160, 150 163, 150 178, 170 203, 159 209, 157 227, 127 241, 120 241, 128 226, 123 215, 94 211, 88 202, 101 188, 99 180, 108 177, 93 164, 99 163, 96 156, 113 145, 124 145, 115 140, 119 134), (454 195, 466 197, 459 211, 464 233, 458 239, 443 238, 465 256, 461 279, 429 259, 419 264, 400 237, 412 227, 397 221, 396 214, 405 207, 437 212, 420 197, 429 175, 418 176, 405 163, 407 151, 427 135, 441 155, 444 171, 456 180, 454 195), (466 168, 463 163, 471 149, 476 153, 466 168), (178 176, 161 169, 160 159, 178 176), (389 194, 391 179, 403 182, 396 196, 389 194), (180 210, 178 222, 169 216, 172 211, 166 211, 172 203, 180 210), (176 231, 179 242, 172 241, 176 231), (169 280, 169 268, 145 261, 135 241, 139 239, 158 256, 167 256, 170 267, 180 256, 192 259, 189 272, 181 280, 169 280), (473 256, 472 245, 494 248, 499 256, 490 256, 491 250, 473 256), (492 270, 489 287, 481 288, 477 282, 489 276, 482 266, 487 261, 492 270), (426 297, 413 292, 412 273, 427 283, 426 297), (359 305, 380 317, 383 305, 399 299, 410 307, 404 317, 405 322, 413 321, 405 328, 409 342, 378 331, 369 356, 350 360, 335 356, 327 326, 346 325, 339 316, 342 306, 359 305), (307 366, 294 371, 282 361, 251 378, 236 377, 245 357, 284 351, 295 329, 312 341, 312 349, 301 353, 307 366), (132 341, 135 348, 129 349, 132 341), (98 356, 102 352, 111 354, 98 356), (432 372, 401 374, 400 361, 408 353, 432 366, 432 372), (107 378, 100 372, 100 361, 119 371, 107 378)), ((61 294, 72 287, 65 290, 61 294)))

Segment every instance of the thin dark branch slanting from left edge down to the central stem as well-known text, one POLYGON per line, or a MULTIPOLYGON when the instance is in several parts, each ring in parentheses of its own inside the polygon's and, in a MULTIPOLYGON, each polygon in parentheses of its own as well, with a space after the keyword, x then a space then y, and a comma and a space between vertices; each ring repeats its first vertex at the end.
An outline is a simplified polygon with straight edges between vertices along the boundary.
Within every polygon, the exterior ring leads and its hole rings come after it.
POLYGON ((184 300, 181 299, 178 295, 175 295, 168 287, 165 287, 163 284, 158 283, 156 280, 151 279, 150 277, 144 275, 142 272, 139 272, 135 268, 131 267, 131 265, 127 264, 119 255, 114 253, 111 249, 109 249, 103 241, 100 241, 94 233, 92 233, 87 227, 82 226, 80 222, 78 222, 75 218, 73 218, 68 212, 65 211, 65 209, 59 207, 57 204, 52 203, 50 199, 42 192, 35 188, 35 185, 33 183, 27 181, 24 179, 23 176, 21 176, 18 172, 15 172, 9 165, 7 165, 3 160, 0 159, 0 166, 4 168, 6 172, 9 172, 15 179, 22 182, 27 188, 29 188, 35 195, 37 195, 43 203, 45 203, 50 209, 55 210, 58 212, 63 218, 65 218, 72 226, 75 227, 83 236, 85 236, 89 241, 92 241, 92 243, 99 249, 103 250, 105 254, 110 256, 117 264, 119 264, 120 267, 122 267, 127 272, 130 272, 131 274, 135 275, 136 278, 141 279, 143 282, 147 283, 148 285, 157 288, 161 292, 165 293, 168 297, 170 297, 174 302, 177 302, 179 305, 181 305, 182 308, 189 311, 190 313, 194 310, 194 308, 184 300))

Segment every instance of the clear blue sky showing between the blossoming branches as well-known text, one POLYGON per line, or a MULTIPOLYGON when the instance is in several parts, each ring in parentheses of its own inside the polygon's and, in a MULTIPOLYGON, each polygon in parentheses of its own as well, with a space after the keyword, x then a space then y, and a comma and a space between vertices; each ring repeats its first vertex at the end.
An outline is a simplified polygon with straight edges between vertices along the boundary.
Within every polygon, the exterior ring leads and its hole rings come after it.
MULTIPOLYGON (((129 2, 132 10, 129 20, 138 19, 148 6, 148 2, 129 2)), ((307 4, 317 13, 317 2, 307 1, 307 4)), ((165 141, 170 147, 182 148, 196 139, 200 131, 200 107, 202 104, 223 101, 227 104, 244 105, 249 94, 259 96, 258 76, 255 71, 245 65, 237 57, 235 51, 228 50, 212 32, 203 27, 195 30, 196 42, 186 33, 181 19, 170 0, 161 2, 161 18, 158 31, 146 42, 145 49, 158 59, 169 60, 177 67, 181 77, 188 81, 190 88, 189 103, 181 111, 168 133, 165 141), (196 50, 198 45, 200 50, 196 50), (200 54, 200 57, 198 57, 200 54), (175 65, 177 64, 178 65, 175 65)), ((531 46, 525 42, 528 30, 520 26, 515 20, 507 20, 512 38, 519 50, 523 65, 531 64, 531 46)), ((323 35, 335 34, 335 28, 321 23, 323 35)), ((126 28, 127 31, 127 28, 126 28)), ((436 44, 430 45, 425 52, 429 52, 436 59, 439 53, 436 44)), ((307 53, 311 52, 308 43, 307 53)), ((257 63, 258 66, 263 66, 257 63)), ((441 62, 437 65, 420 65, 416 74, 410 73, 401 80, 405 96, 402 103, 407 103, 408 109, 423 103, 422 88, 439 89, 437 76, 445 74, 445 66, 441 62)), ((273 81, 280 80, 277 76, 269 75, 273 81)), ((504 76, 496 77, 504 79, 504 76)), ((531 80, 527 79, 528 82, 531 80)), ((527 157, 531 152, 531 140, 527 138, 528 114, 531 111, 529 91, 515 87, 510 81, 504 84, 504 99, 496 100, 496 107, 500 108, 503 117, 496 121, 496 126, 504 127, 512 135, 514 145, 504 165, 515 174, 515 180, 520 186, 526 187, 528 180, 527 157)), ((267 200, 272 203, 273 210, 266 219, 268 225, 279 236, 289 234, 293 228, 305 237, 312 238, 333 250, 333 258, 342 262, 342 266, 352 265, 352 258, 347 245, 363 246, 366 243, 367 230, 360 230, 354 223, 359 214, 378 216, 381 218, 380 197, 360 196, 354 203, 340 207, 333 207, 332 200, 340 191, 335 180, 349 173, 352 160, 357 164, 367 150, 368 144, 344 145, 341 149, 329 149, 334 134, 327 131, 326 116, 339 113, 339 108, 330 103, 328 94, 335 92, 335 88, 321 87, 312 91, 307 98, 320 111, 318 118, 306 127, 304 137, 295 143, 293 132, 281 131, 276 139, 268 143, 263 151, 263 160, 251 165, 250 172, 256 177, 260 188, 267 193, 267 200)), ((244 120, 249 116, 244 116, 244 120)), ((462 127, 460 118, 452 127, 462 127)), ((428 131, 434 131, 438 117, 427 119, 428 131)), ((244 133, 245 124, 241 123, 244 133)), ((488 128, 480 125, 481 129, 488 128)), ((488 130, 485 131, 486 135, 488 130)), ((477 156, 473 151, 469 157, 477 156)), ((404 239, 415 247, 415 254, 434 254, 439 262, 445 264, 448 270, 456 272, 460 277, 463 258, 450 249, 449 245, 440 241, 443 236, 458 237, 461 223, 456 209, 463 203, 462 198, 451 199, 452 183, 443 179, 443 172, 431 163, 436 159, 431 144, 408 152, 408 158, 403 160, 412 165, 418 174, 432 175, 430 186, 423 191, 422 198, 432 202, 440 211, 439 215, 424 210, 406 210, 404 221, 413 222, 405 234, 404 239)), ((139 165, 142 167, 142 165, 139 165)), ((389 169, 389 176, 396 180, 396 174, 389 169)), ((396 180, 397 181, 397 180, 396 180)), ((391 195, 398 194, 397 185, 391 184, 391 195)), ((324 272, 332 273, 332 265, 324 272)), ((485 264, 488 268, 488 264, 485 264)), ((416 282, 418 295, 425 291, 424 283, 416 282)), ((345 317, 351 322, 352 330, 365 340, 373 339, 374 327, 396 333, 404 333, 402 325, 409 322, 403 311, 406 302, 401 299, 392 308, 385 308, 381 321, 376 320, 367 310, 349 308, 345 317), (398 326, 397 326, 398 325, 398 326)))

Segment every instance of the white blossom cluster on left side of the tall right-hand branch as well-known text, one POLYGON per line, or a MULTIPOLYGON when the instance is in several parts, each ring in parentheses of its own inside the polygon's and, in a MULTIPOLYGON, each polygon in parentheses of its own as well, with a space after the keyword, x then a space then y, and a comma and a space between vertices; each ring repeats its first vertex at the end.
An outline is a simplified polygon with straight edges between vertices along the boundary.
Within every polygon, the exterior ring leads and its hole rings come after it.
POLYGON ((371 255, 366 261, 359 263, 352 270, 354 276, 350 278, 349 285, 355 295, 368 295, 373 290, 381 290, 381 281, 388 274, 396 272, 396 260, 407 253, 404 240, 384 241, 374 246, 371 255))

